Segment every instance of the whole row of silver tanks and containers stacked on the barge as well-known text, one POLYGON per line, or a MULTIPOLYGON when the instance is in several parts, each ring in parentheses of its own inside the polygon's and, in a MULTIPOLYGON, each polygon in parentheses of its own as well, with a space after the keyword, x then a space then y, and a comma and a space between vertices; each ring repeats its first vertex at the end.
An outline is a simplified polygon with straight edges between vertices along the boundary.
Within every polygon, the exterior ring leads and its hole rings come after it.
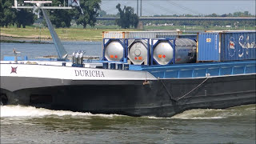
POLYGON ((170 65, 256 59, 255 31, 103 32, 103 61, 130 65, 170 65), (196 36, 196 37, 195 37, 196 36), (196 38, 196 39, 195 39, 196 38))

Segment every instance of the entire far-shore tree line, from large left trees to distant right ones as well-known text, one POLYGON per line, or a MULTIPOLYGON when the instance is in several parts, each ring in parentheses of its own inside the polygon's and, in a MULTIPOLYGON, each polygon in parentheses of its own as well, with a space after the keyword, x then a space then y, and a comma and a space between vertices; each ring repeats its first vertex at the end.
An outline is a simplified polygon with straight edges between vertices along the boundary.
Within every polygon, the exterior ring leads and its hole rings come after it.
MULTIPOLYGON (((23 0, 18 0, 18 4, 22 6, 23 0)), ((65 1, 67 2, 67 1, 65 1)), ((50 15, 50 21, 54 24, 56 28, 59 27, 70 27, 71 20, 74 20, 77 25, 82 25, 83 28, 86 26, 95 26, 96 17, 103 18, 119 18, 115 21, 99 21, 102 25, 118 25, 122 28, 136 28, 138 26, 138 15, 134 14, 134 8, 130 6, 124 6, 118 4, 116 8, 118 9, 118 14, 107 14, 106 11, 100 8, 101 0, 80 0, 80 6, 83 10, 83 14, 80 8, 74 10, 46 10, 50 15)), ((14 5, 14 0, 0 0, 0 26, 17 26, 26 27, 33 25, 37 17, 32 13, 33 10, 19 9, 15 10, 10 8, 14 5)), ((67 6, 67 3, 65 3, 67 6)), ((31 6, 24 3, 24 6, 31 6)), ((49 6, 49 5, 47 5, 49 6)), ((52 0, 50 6, 64 6, 63 1, 52 0)), ((40 13, 42 15, 42 13, 40 13)), ((255 17, 255 15, 250 14, 248 11, 244 12, 234 12, 233 14, 208 14, 208 15, 154 15, 153 17, 169 17, 169 18, 191 18, 191 17, 222 17, 222 18, 235 18, 235 17, 255 17)), ((42 18, 42 16, 41 16, 42 18)), ((152 25, 170 23, 168 20, 147 20, 145 23, 150 23, 152 25)), ((255 26, 254 21, 190 21, 190 20, 176 20, 171 22, 173 26, 204 26, 205 28, 209 26, 255 26)))

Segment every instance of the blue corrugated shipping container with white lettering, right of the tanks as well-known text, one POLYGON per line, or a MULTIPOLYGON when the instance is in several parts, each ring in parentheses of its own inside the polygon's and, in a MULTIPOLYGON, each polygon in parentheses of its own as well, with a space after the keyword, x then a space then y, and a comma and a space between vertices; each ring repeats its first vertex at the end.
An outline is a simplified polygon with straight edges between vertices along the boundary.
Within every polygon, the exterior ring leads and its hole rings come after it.
POLYGON ((222 62, 255 59, 255 31, 198 33, 197 61, 222 62))

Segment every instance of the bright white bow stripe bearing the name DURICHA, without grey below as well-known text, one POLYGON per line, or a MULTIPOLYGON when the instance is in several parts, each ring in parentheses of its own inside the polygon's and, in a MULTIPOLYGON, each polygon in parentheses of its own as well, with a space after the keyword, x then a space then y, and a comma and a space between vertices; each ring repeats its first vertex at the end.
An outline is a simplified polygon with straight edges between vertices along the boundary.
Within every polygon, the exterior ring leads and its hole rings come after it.
POLYGON ((86 67, 0 64, 1 76, 58 78, 69 80, 155 80, 146 71, 109 70, 86 67), (12 71, 12 69, 15 69, 12 71))

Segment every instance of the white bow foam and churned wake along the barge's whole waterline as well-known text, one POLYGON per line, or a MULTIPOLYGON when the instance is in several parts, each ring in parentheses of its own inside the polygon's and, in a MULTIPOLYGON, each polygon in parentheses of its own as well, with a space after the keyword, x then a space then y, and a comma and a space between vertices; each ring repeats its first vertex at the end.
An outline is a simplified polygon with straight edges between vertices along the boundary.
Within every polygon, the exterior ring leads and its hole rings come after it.
MULTIPOLYGON (((1 106, 1 118, 7 117, 44 117, 44 116, 98 116, 112 118, 114 116, 123 116, 119 114, 91 114, 82 112, 73 112, 69 110, 47 110, 44 108, 36 108, 34 106, 1 106)), ((242 115, 255 114, 256 105, 235 106, 229 109, 194 109, 186 110, 181 114, 176 114, 171 119, 219 119, 242 115)), ((156 117, 142 117, 155 118, 156 117)))

